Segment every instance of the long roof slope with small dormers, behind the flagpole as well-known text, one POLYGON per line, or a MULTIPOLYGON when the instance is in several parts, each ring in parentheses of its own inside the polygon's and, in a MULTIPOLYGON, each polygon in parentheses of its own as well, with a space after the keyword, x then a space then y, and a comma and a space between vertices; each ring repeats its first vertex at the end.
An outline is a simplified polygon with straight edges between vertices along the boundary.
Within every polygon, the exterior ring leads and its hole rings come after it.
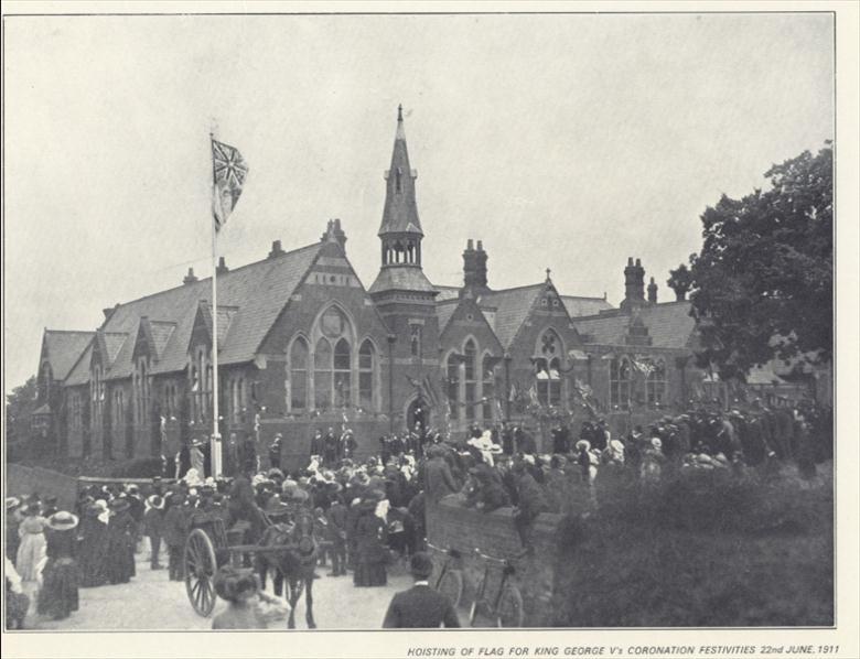
MULTIPOLYGON (((218 344, 218 359, 222 364, 237 364, 254 358, 266 333, 326 245, 316 242, 218 276, 218 306, 233 307, 225 311, 223 322, 222 316, 218 317, 218 334, 222 334, 222 326, 225 332, 218 344)), ((103 328, 109 333, 137 336, 142 316, 158 318, 157 323, 151 322, 153 338, 158 334, 160 338, 155 342, 164 343, 151 372, 182 370, 187 360, 189 338, 197 305, 201 300, 211 298, 209 278, 192 281, 118 305, 103 328), (169 325, 173 325, 173 330, 169 325)), ((132 354, 133 338, 120 350, 109 377, 128 377, 132 354)), ((79 383, 87 380, 88 375, 79 383)))

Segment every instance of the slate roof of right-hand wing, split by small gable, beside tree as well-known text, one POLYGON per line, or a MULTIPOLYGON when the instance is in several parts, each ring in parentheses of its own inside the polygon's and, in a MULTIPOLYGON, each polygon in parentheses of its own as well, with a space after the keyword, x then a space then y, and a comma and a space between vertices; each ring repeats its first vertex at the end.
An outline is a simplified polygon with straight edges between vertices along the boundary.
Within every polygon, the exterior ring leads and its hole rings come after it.
MULTIPOLYGON (((696 323, 689 311, 690 303, 686 300, 641 307, 639 317, 648 330, 652 346, 690 347, 696 323)), ((624 345, 630 321, 630 314, 616 312, 573 318, 573 325, 587 344, 624 345)))

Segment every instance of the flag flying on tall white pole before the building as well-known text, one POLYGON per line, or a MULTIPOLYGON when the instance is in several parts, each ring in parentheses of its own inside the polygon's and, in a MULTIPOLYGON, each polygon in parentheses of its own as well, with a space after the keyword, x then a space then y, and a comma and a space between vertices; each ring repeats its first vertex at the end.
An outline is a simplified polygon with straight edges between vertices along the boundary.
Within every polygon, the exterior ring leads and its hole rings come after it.
POLYGON ((218 257, 215 239, 227 223, 241 195, 248 165, 239 150, 219 142, 209 132, 212 143, 212 441, 211 466, 215 477, 222 475, 221 430, 218 422, 218 257))

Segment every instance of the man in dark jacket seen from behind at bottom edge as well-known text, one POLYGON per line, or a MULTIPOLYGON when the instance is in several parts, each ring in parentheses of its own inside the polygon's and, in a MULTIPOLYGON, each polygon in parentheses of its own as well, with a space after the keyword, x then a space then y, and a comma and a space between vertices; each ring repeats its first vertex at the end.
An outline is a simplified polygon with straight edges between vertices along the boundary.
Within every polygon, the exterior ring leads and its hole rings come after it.
POLYGON ((384 628, 420 629, 460 627, 456 611, 451 601, 430 587, 428 579, 433 573, 433 561, 419 551, 412 554, 409 570, 415 585, 408 591, 397 593, 388 605, 383 620, 384 628))

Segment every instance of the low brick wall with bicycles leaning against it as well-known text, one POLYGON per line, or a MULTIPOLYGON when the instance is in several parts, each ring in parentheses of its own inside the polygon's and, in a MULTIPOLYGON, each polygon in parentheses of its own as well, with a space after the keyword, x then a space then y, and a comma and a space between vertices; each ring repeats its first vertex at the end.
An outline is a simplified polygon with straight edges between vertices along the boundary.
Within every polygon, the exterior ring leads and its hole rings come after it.
MULTIPOLYGON (((456 549, 463 557, 460 563, 464 573, 463 601, 466 605, 474 599, 475 587, 485 566, 484 561, 474 554, 475 549, 498 559, 510 559, 523 550, 513 516, 513 508, 507 507, 493 512, 465 507, 460 495, 448 496, 436 506, 428 505, 428 541, 439 548, 456 549)), ((535 521, 535 553, 514 561, 516 573, 512 579, 523 595, 526 627, 546 627, 552 619, 551 598, 558 570, 558 530, 561 519, 561 515, 540 515, 535 521)), ((433 550, 431 552, 438 569, 447 557, 433 550)), ((491 574, 490 587, 497 587, 498 571, 491 574)))

